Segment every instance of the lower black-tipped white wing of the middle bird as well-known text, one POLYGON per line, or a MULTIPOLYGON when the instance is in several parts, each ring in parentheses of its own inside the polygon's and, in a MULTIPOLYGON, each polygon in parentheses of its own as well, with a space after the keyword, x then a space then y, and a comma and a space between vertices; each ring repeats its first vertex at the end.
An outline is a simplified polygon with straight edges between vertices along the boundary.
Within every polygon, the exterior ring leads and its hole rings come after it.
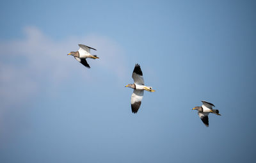
POLYGON ((141 100, 143 98, 143 94, 144 94, 144 90, 134 89, 131 97, 132 113, 138 112, 140 108, 141 100))

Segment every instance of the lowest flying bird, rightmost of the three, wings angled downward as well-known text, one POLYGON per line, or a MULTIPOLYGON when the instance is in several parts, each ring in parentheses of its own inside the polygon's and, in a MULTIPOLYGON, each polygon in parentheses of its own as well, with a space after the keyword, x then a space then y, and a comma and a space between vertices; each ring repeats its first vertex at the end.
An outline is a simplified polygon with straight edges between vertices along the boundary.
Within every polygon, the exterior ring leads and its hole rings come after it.
POLYGON ((214 105, 211 104, 210 102, 202 101, 202 103, 203 103, 202 106, 196 106, 192 110, 198 110, 198 116, 201 118, 205 126, 209 127, 208 114, 213 113, 213 114, 217 114, 218 116, 221 116, 221 114, 219 114, 218 109, 212 109, 214 105))

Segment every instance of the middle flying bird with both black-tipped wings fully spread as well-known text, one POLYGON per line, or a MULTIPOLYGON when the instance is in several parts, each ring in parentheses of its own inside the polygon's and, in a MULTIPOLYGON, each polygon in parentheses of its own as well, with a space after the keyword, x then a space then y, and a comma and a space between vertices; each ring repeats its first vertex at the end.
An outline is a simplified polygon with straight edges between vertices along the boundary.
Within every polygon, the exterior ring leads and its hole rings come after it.
POLYGON ((150 87, 150 86, 144 85, 144 79, 143 79, 143 75, 142 75, 141 68, 140 68, 139 64, 136 64, 134 67, 134 70, 132 72, 132 79, 133 79, 134 83, 127 84, 127 86, 125 86, 125 87, 134 89, 134 91, 132 93, 132 97, 131 97, 131 107, 132 107, 132 113, 137 113, 140 108, 144 90, 150 91, 150 92, 153 92, 155 90, 153 90, 152 87, 150 87))

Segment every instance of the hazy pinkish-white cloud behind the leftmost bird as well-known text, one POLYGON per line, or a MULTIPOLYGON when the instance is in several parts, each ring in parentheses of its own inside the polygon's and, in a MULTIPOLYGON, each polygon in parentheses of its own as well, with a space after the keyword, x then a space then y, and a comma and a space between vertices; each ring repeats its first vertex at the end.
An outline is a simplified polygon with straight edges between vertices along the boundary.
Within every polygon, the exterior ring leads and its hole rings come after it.
MULTIPOLYGON (((70 36, 61 41, 54 41, 36 27, 25 27, 24 34, 24 38, 0 42, 0 98, 5 107, 13 102, 20 104, 40 93, 44 89, 42 82, 57 85, 76 72, 74 70, 92 70, 84 68, 74 58, 67 56, 68 52, 79 48, 78 43, 97 49, 92 53, 97 54, 100 59, 89 59, 89 64, 108 70, 117 81, 124 77, 124 52, 115 41, 106 36, 70 36)), ((84 81, 93 81, 93 76, 89 73, 83 74, 83 77, 84 81)))

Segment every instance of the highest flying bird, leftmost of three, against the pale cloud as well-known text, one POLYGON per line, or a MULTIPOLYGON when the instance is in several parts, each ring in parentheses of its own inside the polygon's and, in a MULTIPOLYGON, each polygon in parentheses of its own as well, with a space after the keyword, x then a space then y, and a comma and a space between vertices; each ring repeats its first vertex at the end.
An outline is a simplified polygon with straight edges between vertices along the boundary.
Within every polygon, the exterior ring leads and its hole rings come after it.
POLYGON ((79 61, 81 64, 83 64, 87 68, 91 68, 90 65, 87 63, 86 58, 99 59, 99 57, 97 57, 96 55, 90 54, 90 49, 93 49, 93 50, 96 50, 96 49, 94 49, 92 47, 88 47, 83 44, 78 44, 78 45, 80 47, 78 49, 78 51, 70 52, 70 53, 68 53, 68 55, 74 56, 74 58, 77 61, 79 61))

